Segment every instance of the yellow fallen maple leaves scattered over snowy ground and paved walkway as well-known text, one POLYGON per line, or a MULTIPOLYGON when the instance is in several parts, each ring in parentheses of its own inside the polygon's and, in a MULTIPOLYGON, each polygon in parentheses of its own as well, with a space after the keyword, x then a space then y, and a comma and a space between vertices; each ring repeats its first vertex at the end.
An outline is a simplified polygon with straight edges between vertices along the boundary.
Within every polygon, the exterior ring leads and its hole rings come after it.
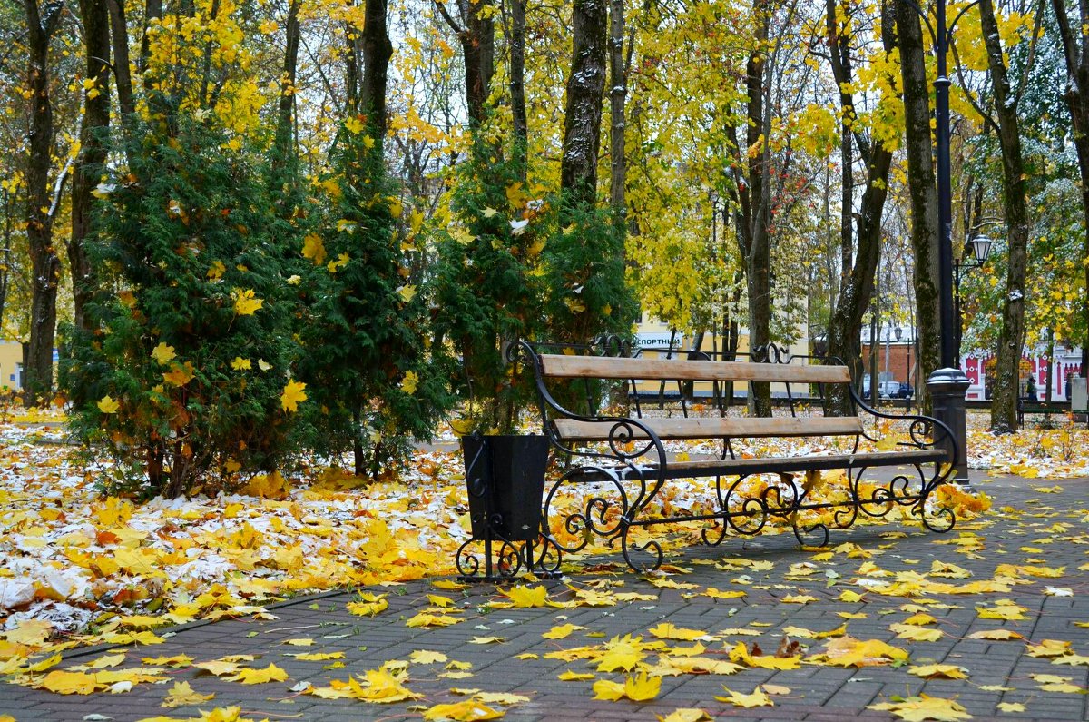
MULTIPOLYGON (((46 417, 21 421, 57 420, 46 417)), ((979 419, 971 422, 979 425, 979 419)), ((274 618, 266 606, 295 594, 333 588, 389 587, 427 576, 451 575, 454 551, 468 539, 463 469, 455 454, 420 453, 400 482, 363 485, 337 470, 316 469, 306 478, 258 477, 234 495, 154 500, 137 505, 124 498, 101 496, 95 483, 96 471, 86 467, 86 457, 56 443, 63 437, 58 429, 62 429, 61 422, 45 429, 27 429, 26 424, 11 421, 0 425, 3 455, 0 547, 4 558, 0 568, 3 622, 0 666, 8 682, 59 694, 123 694, 138 685, 171 684, 179 670, 198 670, 224 682, 279 683, 295 694, 329 699, 407 702, 412 705, 411 711, 421 713, 427 720, 498 719, 509 707, 528 700, 522 695, 488 693, 469 685, 450 688, 448 697, 453 695, 456 701, 428 703, 424 695, 413 689, 411 674, 438 672, 454 685, 474 674, 470 663, 427 650, 417 650, 408 660, 389 660, 378 669, 346 674, 346 678, 333 675, 327 686, 309 682, 293 685, 274 661, 260 661, 252 654, 203 660, 187 654, 154 653, 154 646, 167 638, 160 633, 171 625, 197 619, 274 618), (89 663, 61 669, 60 652, 103 642, 120 647, 89 663), (138 651, 126 653, 125 646, 138 651)), ((974 468, 989 468, 995 473, 1014 473, 1029 480, 1089 477, 1089 436, 1070 424, 998 437, 972 429, 970 436, 974 468)), ((829 440, 830 453, 836 450, 835 443, 829 440)), ((678 445, 674 450, 695 454, 705 449, 678 445)), ((752 448, 746 453, 784 450, 752 448)), ((810 446, 804 450, 821 449, 810 446)), ((1062 491, 1060 485, 1026 483, 1041 494, 1062 491)), ((674 512, 695 509, 706 506, 707 496, 708 490, 701 482, 677 482, 669 488, 662 502, 674 512)), ((1033 545, 1020 549, 1024 558, 1003 558, 991 577, 980 578, 952 557, 959 554, 984 558, 986 538, 979 532, 990 525, 989 514, 993 514, 988 512, 990 502, 982 494, 956 493, 949 500, 957 505, 962 519, 979 516, 960 524, 953 534, 934 537, 934 543, 943 544, 935 547, 943 550, 935 556, 944 554, 949 558, 934 558, 929 567, 926 562, 915 561, 919 565, 917 570, 892 573, 879 564, 885 550, 893 549, 894 540, 904 536, 902 524, 889 527, 890 531, 882 536, 892 543, 878 549, 852 543, 835 545, 833 537, 833 546, 810 550, 809 561, 790 565, 785 580, 827 580, 829 591, 839 589, 839 593, 818 599, 798 587, 794 589, 796 593, 775 591, 772 595, 787 607, 834 603, 836 615, 842 618, 842 624, 834 628, 809 629, 800 624, 783 624, 772 630, 767 628, 773 626, 770 623, 754 622, 736 628, 690 629, 666 621, 648 626, 641 634, 605 639, 600 631, 563 623, 567 618, 565 610, 575 607, 652 609, 657 589, 675 590, 689 599, 700 597, 714 603, 744 605, 762 590, 788 586, 764 583, 774 566, 771 562, 746 559, 744 554, 730 556, 737 553, 738 540, 726 541, 735 544, 733 549, 723 546, 712 558, 696 561, 723 570, 717 587, 686 582, 684 573, 692 567, 668 564, 661 574, 644 579, 650 589, 631 591, 624 589, 623 579, 633 575, 617 575, 622 570, 620 564, 583 567, 575 559, 572 571, 586 571, 590 581, 550 588, 515 586, 500 590, 488 606, 555 610, 556 624, 543 635, 541 651, 518 657, 568 663, 570 667, 559 678, 582 683, 595 699, 647 702, 659 696, 663 678, 727 676, 746 669, 787 672, 813 664, 855 669, 891 665, 902 667, 908 679, 916 683, 970 679, 970 670, 930 659, 926 645, 941 640, 946 634, 934 613, 971 607, 974 594, 987 594, 986 603, 975 603, 979 618, 1013 626, 977 631, 971 638, 1021 645, 1026 654, 1057 665, 1055 674, 1032 675, 1031 693, 1025 701, 1042 693, 1085 695, 1087 689, 1075 683, 1076 676, 1085 675, 1070 672, 1081 665, 1089 666, 1089 646, 1076 648, 1064 640, 1029 639, 1016 625, 1031 619, 1036 612, 1001 594, 1012 595, 1020 586, 1050 597, 1082 593, 1084 573, 1089 570, 1089 563, 1077 569, 1050 567, 1045 550, 1037 545, 1089 543, 1086 534, 1089 510, 1056 513, 1043 502, 1031 504, 1028 509, 1008 506, 998 509, 1007 519, 1024 519, 1027 533, 1035 534, 1026 537, 1033 545), (601 578, 595 580, 598 574, 601 578), (942 597, 942 601, 935 600, 935 595, 942 597), (950 597, 957 599, 957 604, 945 601, 950 597), (903 613, 890 615, 886 628, 895 637, 888 642, 852 634, 852 622, 867 617, 867 598, 904 600, 900 607, 903 613)), ((686 546, 698 539, 698 525, 689 527, 670 537, 671 547, 686 546)), ((782 530, 769 527, 768 533, 782 530)), ((615 550, 592 546, 586 555, 595 552, 616 555, 615 550)), ((580 574, 580 578, 587 577, 580 574)), ((439 588, 437 591, 458 589, 444 580, 432 583, 439 588)), ((528 583, 533 585, 531 578, 528 583)), ((347 611, 365 617, 380 616, 389 607, 388 593, 388 590, 362 592, 347 605, 347 611)), ((414 614, 393 617, 388 623, 437 629, 464 624, 468 618, 463 612, 450 597, 435 593, 414 614)), ((1078 626, 1089 627, 1089 618, 1078 626)), ((504 641, 501 636, 481 630, 472 643, 504 641)), ((289 640, 292 642, 298 649, 286 653, 295 660, 314 662, 330 671, 344 666, 338 661, 343 659, 343 652, 308 650, 314 643, 308 638, 289 640)), ((803 687, 804 679, 797 686, 803 687)), ((910 687, 910 683, 906 684, 905 690, 910 687)), ((995 685, 980 688, 1003 690, 995 685)), ((1014 691, 1013 687, 1005 689, 1014 691)), ((714 697, 718 702, 743 708, 774 705, 776 696, 794 699, 799 696, 785 685, 771 683, 751 688, 727 683, 721 685, 721 690, 714 697)), ((194 689, 188 682, 175 682, 163 707, 210 708, 216 705, 211 701, 213 696, 194 689)), ((1010 699, 1008 695, 1006 698, 1010 699)), ((905 720, 970 719, 969 711, 955 699, 925 694, 894 697, 872 707, 905 720)), ((1008 713, 1025 710, 1025 702, 1019 701, 1001 702, 998 709, 1008 713)), ((230 722, 248 718, 240 708, 216 707, 187 719, 230 722)), ((710 718, 701 709, 684 708, 660 719, 710 718)))

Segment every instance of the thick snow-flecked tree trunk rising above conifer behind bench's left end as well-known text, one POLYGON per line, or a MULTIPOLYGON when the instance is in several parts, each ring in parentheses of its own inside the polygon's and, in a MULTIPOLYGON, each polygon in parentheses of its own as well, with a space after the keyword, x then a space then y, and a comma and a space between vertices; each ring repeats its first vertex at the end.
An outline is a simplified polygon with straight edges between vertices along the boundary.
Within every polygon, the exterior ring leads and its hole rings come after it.
POLYGON ((605 87, 609 12, 605 0, 575 0, 573 56, 567 77, 560 185, 573 202, 591 206, 597 195, 601 105, 605 87))

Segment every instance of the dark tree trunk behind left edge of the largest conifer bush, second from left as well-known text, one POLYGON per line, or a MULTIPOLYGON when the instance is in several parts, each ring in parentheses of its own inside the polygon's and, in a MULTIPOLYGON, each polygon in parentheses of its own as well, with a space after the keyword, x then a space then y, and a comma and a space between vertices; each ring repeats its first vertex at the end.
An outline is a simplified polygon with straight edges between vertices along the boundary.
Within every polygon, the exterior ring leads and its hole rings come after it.
POLYGON ((79 0, 87 80, 95 85, 84 91, 83 121, 79 125, 79 158, 72 178, 72 233, 69 237, 69 269, 72 274, 73 321, 89 329, 86 304, 95 289, 94 268, 84 249, 90 233, 91 191, 98 185, 106 164, 106 133, 110 128, 110 12, 107 0, 79 0))

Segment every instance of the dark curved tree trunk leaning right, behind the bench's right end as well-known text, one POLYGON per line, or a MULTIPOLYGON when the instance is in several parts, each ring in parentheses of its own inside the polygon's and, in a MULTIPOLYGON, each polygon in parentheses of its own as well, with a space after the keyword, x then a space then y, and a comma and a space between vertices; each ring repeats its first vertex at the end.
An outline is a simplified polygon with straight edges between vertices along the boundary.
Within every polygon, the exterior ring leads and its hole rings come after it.
MULTIPOLYGON (((830 3, 829 8, 837 9, 837 5, 830 3)), ((881 44, 886 53, 892 52, 896 46, 892 8, 889 2, 881 5, 881 44)), ((832 63, 833 75, 841 88, 854 80, 851 75, 844 74, 851 71, 849 50, 846 59, 848 62, 832 63)), ((842 108, 844 117, 854 117, 854 97, 849 93, 844 93, 841 94, 840 101, 844 104, 842 108)), ((866 161, 866 191, 862 193, 859 206, 855 264, 840 289, 840 301, 829 324, 828 348, 830 357, 843 360, 851 368, 852 377, 859 378, 862 371, 862 314, 873 297, 874 276, 878 261, 881 258, 881 218, 889 194, 892 152, 880 142, 871 143, 857 130, 854 130, 853 134, 859 155, 866 161)), ((876 377, 870 378, 871 388, 877 388, 876 382, 876 377)), ((827 412, 854 413, 849 396, 835 388, 830 388, 829 392, 824 399, 827 412)))

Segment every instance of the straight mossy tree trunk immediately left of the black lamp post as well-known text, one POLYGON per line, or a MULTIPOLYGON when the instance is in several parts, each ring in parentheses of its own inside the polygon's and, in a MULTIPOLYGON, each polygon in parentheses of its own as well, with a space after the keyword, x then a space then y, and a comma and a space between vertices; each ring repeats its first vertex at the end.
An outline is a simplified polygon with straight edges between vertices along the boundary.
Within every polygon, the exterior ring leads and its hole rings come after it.
MULTIPOLYGON (((904 87, 907 191, 911 205, 911 250, 915 254, 915 298, 919 366, 929 376, 941 365, 941 311, 938 294, 938 186, 930 133, 930 94, 919 15, 910 0, 896 0, 900 69, 904 87)), ((919 407, 930 409, 923 385, 915 389, 919 407)))

